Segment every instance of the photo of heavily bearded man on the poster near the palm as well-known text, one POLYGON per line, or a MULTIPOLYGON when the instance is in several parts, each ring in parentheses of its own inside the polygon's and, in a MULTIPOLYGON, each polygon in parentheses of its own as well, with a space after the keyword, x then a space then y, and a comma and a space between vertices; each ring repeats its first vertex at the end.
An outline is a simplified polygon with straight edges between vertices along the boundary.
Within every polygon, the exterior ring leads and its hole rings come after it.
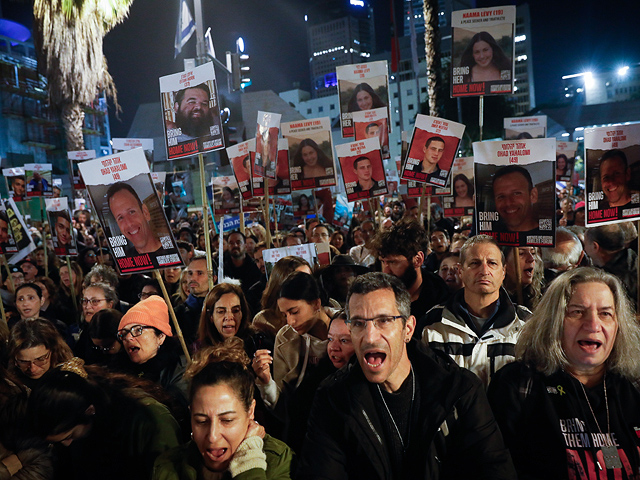
POLYGON ((206 83, 185 88, 176 94, 173 110, 175 122, 167 121, 167 130, 180 129, 178 142, 195 140, 211 136, 210 127, 214 125, 214 111, 209 106, 211 91, 206 83))

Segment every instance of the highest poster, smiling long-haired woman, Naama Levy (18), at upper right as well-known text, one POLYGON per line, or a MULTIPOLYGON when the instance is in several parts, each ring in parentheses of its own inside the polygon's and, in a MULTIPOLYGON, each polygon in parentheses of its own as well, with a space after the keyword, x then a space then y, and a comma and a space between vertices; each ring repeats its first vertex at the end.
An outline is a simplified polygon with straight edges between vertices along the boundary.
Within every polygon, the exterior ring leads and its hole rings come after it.
POLYGON ((451 13, 451 97, 513 93, 516 7, 451 13))

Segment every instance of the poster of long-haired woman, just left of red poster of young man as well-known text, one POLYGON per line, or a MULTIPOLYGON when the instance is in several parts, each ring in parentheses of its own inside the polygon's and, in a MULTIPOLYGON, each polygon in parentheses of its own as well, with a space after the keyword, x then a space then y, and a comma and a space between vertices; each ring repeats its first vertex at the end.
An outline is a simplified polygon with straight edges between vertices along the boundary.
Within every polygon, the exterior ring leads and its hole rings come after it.
POLYGON ((280 128, 289 143, 291 190, 335 186, 329 117, 283 123, 280 128))

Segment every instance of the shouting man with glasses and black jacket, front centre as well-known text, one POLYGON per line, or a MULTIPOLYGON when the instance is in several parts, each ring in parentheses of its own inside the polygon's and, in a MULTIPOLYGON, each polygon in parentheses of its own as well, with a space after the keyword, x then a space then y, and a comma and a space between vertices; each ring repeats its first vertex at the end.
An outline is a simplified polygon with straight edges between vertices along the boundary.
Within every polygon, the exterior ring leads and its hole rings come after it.
POLYGON ((481 382, 411 340, 399 279, 357 277, 347 315, 357 362, 318 389, 297 478, 515 478, 481 382))

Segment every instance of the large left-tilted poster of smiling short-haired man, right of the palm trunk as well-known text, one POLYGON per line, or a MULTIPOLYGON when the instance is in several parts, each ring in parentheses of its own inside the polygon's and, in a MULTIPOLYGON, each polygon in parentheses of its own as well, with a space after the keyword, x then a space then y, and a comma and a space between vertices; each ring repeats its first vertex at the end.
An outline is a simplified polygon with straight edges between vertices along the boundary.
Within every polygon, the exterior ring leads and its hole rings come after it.
POLYGON ((182 266, 142 149, 80 164, 120 273, 182 266))

